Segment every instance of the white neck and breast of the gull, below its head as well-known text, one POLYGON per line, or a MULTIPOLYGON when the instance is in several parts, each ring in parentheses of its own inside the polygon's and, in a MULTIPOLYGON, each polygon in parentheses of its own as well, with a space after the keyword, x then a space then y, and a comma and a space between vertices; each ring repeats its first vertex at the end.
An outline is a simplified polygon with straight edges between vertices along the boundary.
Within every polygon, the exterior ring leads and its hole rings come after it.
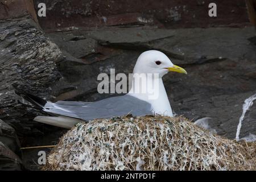
POLYGON ((139 75, 134 75, 132 86, 128 94, 150 103, 152 114, 168 115, 172 117, 171 105, 162 78, 154 76, 142 78, 139 75), (141 81, 139 81, 140 79, 141 81))

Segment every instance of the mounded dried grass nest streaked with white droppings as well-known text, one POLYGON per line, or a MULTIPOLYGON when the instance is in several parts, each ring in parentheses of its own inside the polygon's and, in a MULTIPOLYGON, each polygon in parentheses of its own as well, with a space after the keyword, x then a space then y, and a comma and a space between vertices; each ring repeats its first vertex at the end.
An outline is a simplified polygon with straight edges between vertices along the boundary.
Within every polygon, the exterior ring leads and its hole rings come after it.
POLYGON ((184 117, 79 123, 51 151, 44 170, 255 170, 256 144, 210 134, 184 117))

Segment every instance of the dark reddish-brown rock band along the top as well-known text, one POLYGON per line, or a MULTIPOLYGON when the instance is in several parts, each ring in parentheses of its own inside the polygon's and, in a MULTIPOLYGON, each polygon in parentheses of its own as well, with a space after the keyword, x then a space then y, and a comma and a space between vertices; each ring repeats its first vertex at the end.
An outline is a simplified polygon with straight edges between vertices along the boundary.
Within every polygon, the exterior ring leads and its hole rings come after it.
POLYGON ((77 27, 157 26, 171 28, 241 26, 248 22, 245 1, 214 1, 217 17, 208 15, 210 0, 34 0, 46 3, 47 16, 39 18, 46 31, 77 27))

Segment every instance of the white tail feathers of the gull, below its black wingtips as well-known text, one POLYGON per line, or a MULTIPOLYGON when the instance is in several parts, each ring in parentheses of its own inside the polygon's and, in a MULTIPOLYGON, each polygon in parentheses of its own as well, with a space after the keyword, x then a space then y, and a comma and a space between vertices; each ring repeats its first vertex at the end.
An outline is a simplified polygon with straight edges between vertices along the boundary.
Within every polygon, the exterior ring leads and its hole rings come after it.
POLYGON ((48 116, 37 116, 34 121, 45 123, 47 125, 63 127, 65 129, 71 129, 76 123, 82 122, 81 119, 59 116, 59 117, 48 117, 48 116))

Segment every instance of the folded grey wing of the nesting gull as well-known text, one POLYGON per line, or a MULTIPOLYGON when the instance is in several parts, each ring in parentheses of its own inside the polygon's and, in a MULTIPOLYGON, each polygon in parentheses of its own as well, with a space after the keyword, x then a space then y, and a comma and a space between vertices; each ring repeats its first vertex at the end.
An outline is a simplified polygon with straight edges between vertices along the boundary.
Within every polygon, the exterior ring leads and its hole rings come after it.
POLYGON ((151 105, 133 96, 110 97, 96 102, 58 101, 44 107, 44 111, 90 121, 96 118, 111 118, 126 114, 135 116, 152 114, 151 105), (63 103, 62 103, 63 102, 63 103), (64 105, 63 105, 64 104, 64 105))

